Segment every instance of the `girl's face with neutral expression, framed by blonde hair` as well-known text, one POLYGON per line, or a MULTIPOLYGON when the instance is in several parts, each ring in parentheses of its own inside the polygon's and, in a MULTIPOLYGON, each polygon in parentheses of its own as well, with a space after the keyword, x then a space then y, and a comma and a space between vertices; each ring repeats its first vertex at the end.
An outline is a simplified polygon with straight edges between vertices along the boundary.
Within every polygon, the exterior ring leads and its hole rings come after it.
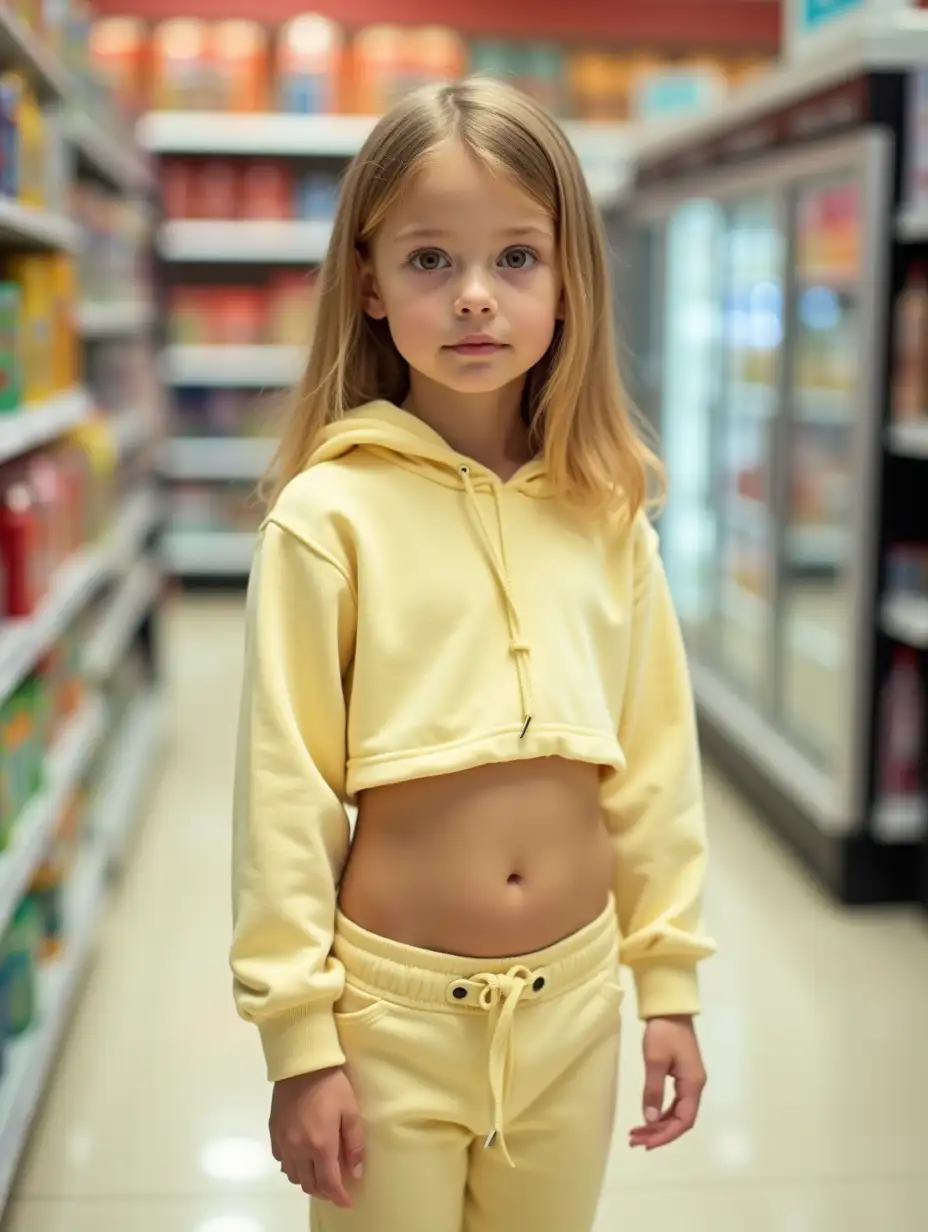
POLYGON ((365 312, 414 372, 460 393, 511 384, 551 344, 561 303, 555 224, 456 143, 387 213, 362 265, 365 312))

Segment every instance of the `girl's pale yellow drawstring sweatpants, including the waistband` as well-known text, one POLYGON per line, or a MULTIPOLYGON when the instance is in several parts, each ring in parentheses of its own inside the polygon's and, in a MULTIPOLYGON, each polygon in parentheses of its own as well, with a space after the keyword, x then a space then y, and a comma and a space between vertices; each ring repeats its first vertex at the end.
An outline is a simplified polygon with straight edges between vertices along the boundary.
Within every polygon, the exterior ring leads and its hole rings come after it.
POLYGON ((613 1131, 610 907, 518 958, 458 958, 338 920, 336 1005, 366 1135, 352 1210, 313 1232, 588 1232, 613 1131))

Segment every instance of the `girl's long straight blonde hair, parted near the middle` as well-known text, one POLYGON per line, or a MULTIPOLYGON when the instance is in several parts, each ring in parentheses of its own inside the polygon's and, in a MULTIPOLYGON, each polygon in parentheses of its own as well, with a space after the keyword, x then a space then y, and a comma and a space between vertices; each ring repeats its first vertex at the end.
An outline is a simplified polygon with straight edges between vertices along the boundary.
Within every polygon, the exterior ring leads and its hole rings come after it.
POLYGON ((402 404, 407 397, 408 366, 386 322, 362 310, 357 254, 429 152, 449 139, 510 176, 556 225, 563 320, 529 373, 525 402, 548 480, 578 510, 633 517, 663 492, 663 469, 622 394, 599 213, 555 120, 518 90, 479 78, 410 95, 377 123, 348 169, 317 283, 309 361, 272 464, 271 496, 306 468, 327 424, 366 402, 402 404))

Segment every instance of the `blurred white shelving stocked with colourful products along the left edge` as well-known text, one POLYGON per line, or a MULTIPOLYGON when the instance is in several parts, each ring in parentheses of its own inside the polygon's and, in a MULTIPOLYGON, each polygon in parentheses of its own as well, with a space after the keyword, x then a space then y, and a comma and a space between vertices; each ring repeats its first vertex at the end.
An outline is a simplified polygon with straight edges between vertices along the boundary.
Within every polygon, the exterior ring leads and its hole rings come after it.
POLYGON ((161 737, 153 180, 88 34, 0 11, 0 1206, 161 737))

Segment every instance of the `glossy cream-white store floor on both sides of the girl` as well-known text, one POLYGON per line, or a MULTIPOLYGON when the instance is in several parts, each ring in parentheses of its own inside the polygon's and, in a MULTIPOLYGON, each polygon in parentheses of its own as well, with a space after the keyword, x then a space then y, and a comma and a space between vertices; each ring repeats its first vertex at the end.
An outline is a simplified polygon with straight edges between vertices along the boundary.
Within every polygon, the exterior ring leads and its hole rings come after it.
MULTIPOLYGON (((174 745, 4 1232, 299 1232, 226 972, 240 605, 166 622, 174 745)), ((637 1027, 598 1232, 924 1232, 928 924, 827 906, 710 779, 701 1129, 632 1156, 637 1027)), ((521 1230, 513 1230, 521 1232, 521 1230)), ((526 1230, 527 1232, 527 1230, 526 1230)))

